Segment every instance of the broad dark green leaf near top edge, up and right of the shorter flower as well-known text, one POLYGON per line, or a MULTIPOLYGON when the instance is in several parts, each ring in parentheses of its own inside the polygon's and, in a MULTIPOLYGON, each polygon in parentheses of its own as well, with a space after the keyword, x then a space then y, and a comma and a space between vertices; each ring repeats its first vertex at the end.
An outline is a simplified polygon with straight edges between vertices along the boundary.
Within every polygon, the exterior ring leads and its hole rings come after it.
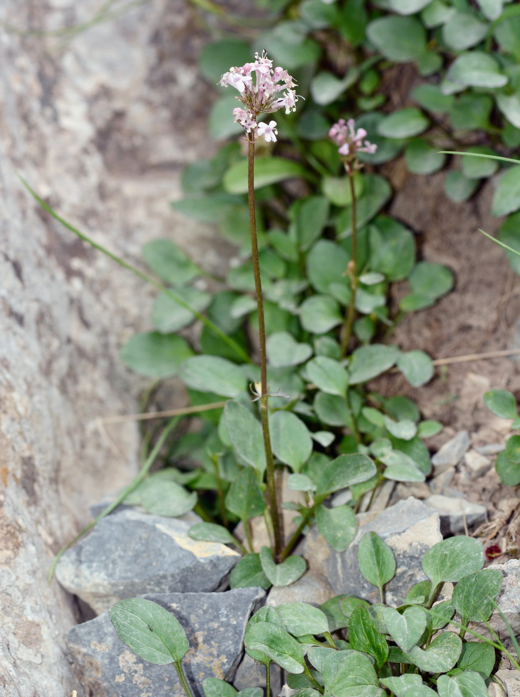
POLYGON ((418 59, 426 50, 426 31, 415 17, 380 17, 367 26, 370 43, 396 63, 418 59))

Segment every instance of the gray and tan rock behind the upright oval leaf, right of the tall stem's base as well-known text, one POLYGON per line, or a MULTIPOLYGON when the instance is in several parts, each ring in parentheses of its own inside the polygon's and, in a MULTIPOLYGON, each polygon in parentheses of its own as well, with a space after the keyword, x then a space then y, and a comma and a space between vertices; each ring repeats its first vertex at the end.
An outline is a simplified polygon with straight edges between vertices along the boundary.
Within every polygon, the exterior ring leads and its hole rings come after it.
POLYGON ((396 574, 386 585, 385 597, 388 604, 397 605, 411 585, 426 579, 422 573, 422 556, 443 539, 438 513, 410 497, 375 516, 362 514, 358 516, 358 523, 360 521, 362 524, 346 551, 331 549, 313 528, 300 544, 298 552, 305 556, 311 571, 326 574, 335 595, 350 593, 378 602, 378 591, 363 578, 358 568, 360 539, 369 531, 378 533, 395 555, 396 574))

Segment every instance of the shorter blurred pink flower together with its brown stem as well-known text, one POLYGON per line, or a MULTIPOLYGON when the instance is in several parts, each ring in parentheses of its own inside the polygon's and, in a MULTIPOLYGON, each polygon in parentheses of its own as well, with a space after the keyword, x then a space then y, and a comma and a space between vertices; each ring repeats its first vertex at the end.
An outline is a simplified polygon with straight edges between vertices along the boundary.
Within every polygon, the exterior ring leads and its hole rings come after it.
POLYGON ((345 121, 340 118, 335 123, 328 135, 332 138, 335 144, 339 145, 338 153, 342 156, 343 164, 347 176, 349 177, 349 187, 351 192, 351 215, 352 215, 352 259, 349 266, 346 268, 346 274, 351 282, 351 299, 349 306, 346 308, 345 319, 342 331, 341 355, 345 357, 349 348, 349 341, 352 334, 352 328, 355 317, 355 293, 359 286, 358 273, 358 229, 356 223, 357 207, 355 201, 355 182, 354 175, 358 169, 361 169, 362 164, 356 157, 356 153, 375 153, 377 146, 364 140, 367 132, 364 128, 356 130, 353 118, 345 121))

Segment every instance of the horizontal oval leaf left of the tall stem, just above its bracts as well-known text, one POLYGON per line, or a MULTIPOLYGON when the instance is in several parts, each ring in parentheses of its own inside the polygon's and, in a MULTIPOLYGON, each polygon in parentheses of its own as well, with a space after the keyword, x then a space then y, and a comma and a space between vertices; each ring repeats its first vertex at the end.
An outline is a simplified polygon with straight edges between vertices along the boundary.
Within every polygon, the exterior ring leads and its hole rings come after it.
POLYGON ((245 375, 225 358, 194 355, 181 365, 179 377, 192 390, 215 392, 223 397, 236 397, 245 390, 245 375))

